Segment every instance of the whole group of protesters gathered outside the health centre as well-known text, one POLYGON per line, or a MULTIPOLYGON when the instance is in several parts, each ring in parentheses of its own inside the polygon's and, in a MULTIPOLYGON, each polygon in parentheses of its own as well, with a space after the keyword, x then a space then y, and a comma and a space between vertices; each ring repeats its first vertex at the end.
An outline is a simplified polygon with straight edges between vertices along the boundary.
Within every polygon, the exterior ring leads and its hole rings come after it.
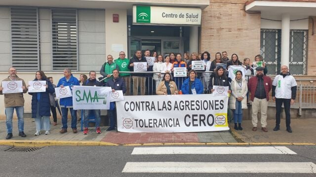
MULTIPOLYGON (((250 59, 244 59, 244 62, 240 62, 237 54, 232 55, 232 59, 227 58, 227 52, 216 53, 215 59, 210 61, 210 54, 204 52, 201 54, 201 60, 205 62, 204 69, 202 71, 211 71, 204 73, 197 73, 192 69, 192 61, 199 60, 197 53, 192 54, 192 58, 189 53, 184 54, 182 58, 181 54, 171 53, 169 56, 157 55, 156 62, 152 66, 154 74, 148 74, 146 72, 133 72, 134 63, 147 62, 145 56, 150 56, 150 51, 146 50, 145 55, 142 55, 141 50, 137 50, 132 59, 125 58, 125 53, 120 52, 119 57, 113 60, 112 55, 107 56, 107 62, 105 62, 100 70, 100 74, 103 78, 96 79, 96 72, 90 71, 89 78, 85 75, 80 75, 79 80, 75 78, 71 69, 64 69, 64 77, 62 77, 57 86, 53 85, 51 77, 46 77, 43 71, 37 71, 34 81, 46 81, 45 92, 29 92, 32 95, 32 118, 35 118, 36 132, 35 136, 39 136, 41 130, 45 131, 45 134, 50 134, 50 111, 53 114, 53 125, 57 124, 56 117, 56 98, 54 97, 54 87, 66 87, 70 86, 94 86, 94 87, 111 87, 112 91, 122 90, 123 93, 129 95, 131 83, 133 84, 133 95, 145 95, 151 92, 151 88, 146 88, 146 81, 148 85, 155 86, 155 92, 158 95, 172 95, 172 94, 202 94, 206 92, 213 92, 213 86, 228 87, 229 108, 234 111, 234 123, 236 130, 242 130, 242 109, 247 109, 247 96, 250 92, 250 100, 252 101, 252 124, 253 131, 257 131, 258 124, 258 112, 261 112, 261 129, 267 132, 267 109, 269 101, 269 92, 272 90, 272 98, 276 101, 276 126, 275 131, 280 129, 280 113, 281 106, 284 104, 284 110, 286 115, 286 130, 292 132, 290 127, 290 105, 294 103, 296 97, 297 84, 295 79, 288 72, 286 65, 281 66, 281 73, 276 75, 274 81, 266 76, 267 67, 263 62, 262 56, 255 57, 255 61, 262 61, 260 66, 254 67, 250 65, 250 59), (222 57, 223 56, 223 57, 222 57), (224 63, 223 65, 216 65, 216 63, 224 63), (244 72, 237 70, 234 77, 228 77, 227 70, 232 65, 243 65, 243 68, 250 73, 255 73, 249 80, 245 79, 244 72), (186 67, 188 70, 188 78, 186 77, 172 77, 172 71, 176 67, 186 67), (254 69, 255 68, 255 69, 254 69), (254 71, 255 70, 255 71, 254 71), (127 71, 127 72, 121 72, 127 71), (203 80, 197 78, 197 76, 203 76, 203 80), (138 89, 140 88, 140 89, 138 89), (179 89, 178 89, 179 88, 179 89), (181 89, 180 89, 181 88, 181 89), (205 92, 206 91, 206 92, 205 92)), ((254 63, 255 64, 255 63, 254 63)), ((145 66, 148 70, 151 70, 151 66, 147 64, 145 66)), ((3 87, 0 86, 0 94, 4 94, 4 105, 6 115, 7 136, 6 139, 11 139, 12 134, 12 117, 14 109, 18 118, 18 130, 19 136, 26 137, 24 133, 24 97, 23 93, 26 93, 28 87, 24 80, 16 75, 16 69, 14 67, 9 68, 9 76, 3 81, 22 81, 23 92, 18 93, 2 93, 3 87)), ((153 89, 153 88, 152 88, 153 89)), ((67 117, 68 110, 70 111, 72 120, 71 128, 73 133, 77 133, 77 110, 73 109, 72 97, 61 98, 59 101, 61 113, 62 113, 62 129, 60 133, 67 132, 67 117)), ((101 133, 100 130, 100 110, 83 110, 84 118, 84 131, 83 134, 88 134, 88 117, 90 114, 94 114, 96 120, 96 133, 101 133)), ((109 110, 110 127, 107 131, 114 130, 116 127, 116 105, 115 102, 111 102, 109 110)))

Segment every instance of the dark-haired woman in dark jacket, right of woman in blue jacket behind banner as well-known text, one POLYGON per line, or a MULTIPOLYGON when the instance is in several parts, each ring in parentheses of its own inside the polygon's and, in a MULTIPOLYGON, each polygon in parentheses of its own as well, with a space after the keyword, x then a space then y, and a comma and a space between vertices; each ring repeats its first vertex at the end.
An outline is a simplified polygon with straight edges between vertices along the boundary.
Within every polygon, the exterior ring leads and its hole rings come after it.
POLYGON ((227 75, 224 73, 224 68, 223 66, 218 66, 215 70, 215 73, 211 74, 211 77, 209 79, 208 83, 208 89, 213 92, 215 91, 213 89, 213 86, 223 86, 223 87, 228 87, 228 93, 232 93, 231 85, 229 83, 229 78, 227 75))

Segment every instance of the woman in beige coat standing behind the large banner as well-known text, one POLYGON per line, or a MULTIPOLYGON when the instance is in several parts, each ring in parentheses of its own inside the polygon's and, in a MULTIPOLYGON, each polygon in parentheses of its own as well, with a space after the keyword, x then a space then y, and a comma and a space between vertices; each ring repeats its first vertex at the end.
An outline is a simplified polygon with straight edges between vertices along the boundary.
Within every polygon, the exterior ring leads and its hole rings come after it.
POLYGON ((156 94, 158 95, 178 94, 177 85, 174 81, 172 81, 170 73, 165 73, 163 75, 163 79, 158 85, 156 94))

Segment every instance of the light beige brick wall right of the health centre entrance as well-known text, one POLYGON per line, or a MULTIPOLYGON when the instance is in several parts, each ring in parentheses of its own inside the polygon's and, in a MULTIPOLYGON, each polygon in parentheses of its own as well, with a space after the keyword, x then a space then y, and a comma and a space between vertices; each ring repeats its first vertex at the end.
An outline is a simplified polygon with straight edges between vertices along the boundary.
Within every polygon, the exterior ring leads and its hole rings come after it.
POLYGON ((227 51, 231 59, 239 60, 260 54, 260 14, 247 14, 245 0, 210 0, 202 11, 200 50, 209 51, 211 59, 216 52, 227 51))

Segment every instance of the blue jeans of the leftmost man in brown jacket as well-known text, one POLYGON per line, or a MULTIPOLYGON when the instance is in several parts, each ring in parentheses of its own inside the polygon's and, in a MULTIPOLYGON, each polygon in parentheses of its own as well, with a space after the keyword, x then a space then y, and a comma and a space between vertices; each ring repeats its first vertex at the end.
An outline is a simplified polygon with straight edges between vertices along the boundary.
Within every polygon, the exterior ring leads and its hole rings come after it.
POLYGON ((24 131, 24 106, 13 106, 13 107, 6 107, 5 108, 5 124, 6 124, 6 132, 12 133, 12 118, 13 118, 13 112, 16 112, 16 115, 18 117, 18 128, 19 132, 24 131))

